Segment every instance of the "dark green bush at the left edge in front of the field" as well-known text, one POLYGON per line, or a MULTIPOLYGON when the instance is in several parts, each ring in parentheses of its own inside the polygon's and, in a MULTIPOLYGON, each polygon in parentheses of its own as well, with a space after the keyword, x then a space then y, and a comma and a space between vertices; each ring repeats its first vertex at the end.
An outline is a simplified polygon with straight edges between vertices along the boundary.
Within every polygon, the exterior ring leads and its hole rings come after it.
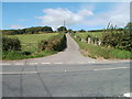
POLYGON ((21 51, 19 38, 2 37, 2 51, 21 51))

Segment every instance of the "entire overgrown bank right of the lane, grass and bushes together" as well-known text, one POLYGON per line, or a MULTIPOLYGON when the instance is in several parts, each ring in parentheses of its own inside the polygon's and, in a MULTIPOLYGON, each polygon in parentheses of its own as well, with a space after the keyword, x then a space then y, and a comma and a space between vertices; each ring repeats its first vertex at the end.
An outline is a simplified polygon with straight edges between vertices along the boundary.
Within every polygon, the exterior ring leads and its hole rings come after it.
POLYGON ((117 28, 109 24, 102 32, 88 32, 88 33, 72 33, 72 36, 79 44, 84 55, 92 58, 132 58, 132 30, 131 23, 125 28, 117 28), (76 36, 75 36, 76 35, 76 36), (80 42, 80 40, 88 41, 90 37, 91 43, 80 42), (94 45, 92 42, 99 41, 101 46, 94 45))

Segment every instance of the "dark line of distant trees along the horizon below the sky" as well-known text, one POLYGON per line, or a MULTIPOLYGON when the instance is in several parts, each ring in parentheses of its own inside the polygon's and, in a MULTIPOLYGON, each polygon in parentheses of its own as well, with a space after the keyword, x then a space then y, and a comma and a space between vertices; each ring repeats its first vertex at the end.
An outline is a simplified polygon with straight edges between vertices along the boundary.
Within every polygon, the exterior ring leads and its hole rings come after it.
MULTIPOLYGON (((113 29, 112 25, 109 24, 110 28, 102 29, 102 30, 89 30, 86 31, 84 29, 74 31, 72 29, 67 29, 66 26, 59 26, 56 31, 53 31, 51 26, 34 26, 34 28, 26 28, 26 29, 19 29, 19 30, 2 30, 2 34, 6 35, 15 35, 15 34, 41 34, 41 33, 54 33, 54 32, 70 32, 70 33, 85 33, 85 32, 103 32, 105 30, 113 29)), ((117 31, 123 31, 124 29, 132 28, 132 22, 129 22, 125 28, 114 28, 117 31)))

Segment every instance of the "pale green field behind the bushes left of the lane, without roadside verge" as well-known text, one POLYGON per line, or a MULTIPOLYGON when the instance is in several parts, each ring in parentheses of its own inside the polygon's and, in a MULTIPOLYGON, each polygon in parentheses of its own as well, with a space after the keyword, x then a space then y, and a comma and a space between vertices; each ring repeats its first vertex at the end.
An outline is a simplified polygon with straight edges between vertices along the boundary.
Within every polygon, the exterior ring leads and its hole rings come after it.
POLYGON ((50 37, 57 35, 58 33, 51 34, 23 34, 23 35, 8 35, 9 37, 18 37, 22 44, 22 51, 36 52, 37 43, 42 40, 48 40, 50 37))

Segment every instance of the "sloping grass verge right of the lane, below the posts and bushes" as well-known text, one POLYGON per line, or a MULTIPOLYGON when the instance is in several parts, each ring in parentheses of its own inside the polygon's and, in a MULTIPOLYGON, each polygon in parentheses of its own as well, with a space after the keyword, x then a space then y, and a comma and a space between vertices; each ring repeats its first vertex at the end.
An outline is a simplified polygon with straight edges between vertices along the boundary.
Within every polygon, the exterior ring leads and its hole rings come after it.
MULTIPOLYGON (((77 35, 82 35, 81 33, 77 35)), ((121 51, 112 47, 102 47, 94 44, 87 44, 85 42, 78 41, 76 37, 73 38, 78 43, 81 53, 85 56, 89 56, 91 58, 120 58, 120 59, 129 59, 132 58, 132 53, 129 51, 121 51)))

